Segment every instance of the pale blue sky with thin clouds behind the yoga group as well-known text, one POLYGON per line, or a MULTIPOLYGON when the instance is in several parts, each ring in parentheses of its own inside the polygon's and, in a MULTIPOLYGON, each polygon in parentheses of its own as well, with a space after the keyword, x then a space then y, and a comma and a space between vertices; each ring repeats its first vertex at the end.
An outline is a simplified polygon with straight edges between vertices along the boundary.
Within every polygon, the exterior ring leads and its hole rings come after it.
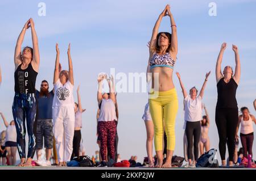
MULTIPOLYGON (((67 47, 71 43, 75 88, 80 84, 82 106, 82 138, 86 154, 98 149, 96 144, 97 74, 115 72, 143 73, 148 60, 147 41, 158 15, 166 4, 171 5, 177 25, 179 52, 175 71, 179 71, 187 90, 201 88, 205 73, 209 77, 203 102, 210 115, 209 137, 211 148, 218 149, 218 134, 214 121, 217 89, 214 68, 220 45, 226 41, 222 68, 235 66, 232 44, 236 44, 241 57, 241 81, 237 90, 238 107, 249 107, 255 115, 253 100, 256 92, 255 10, 256 1, 1 1, 0 66, 2 85, 0 111, 12 120, 11 104, 14 95, 14 48, 19 32, 28 18, 33 18, 39 37, 40 69, 36 81, 53 80, 55 43, 59 43, 60 62, 68 68, 67 47), (46 3, 46 16, 38 16, 38 3, 46 3), (209 3, 217 5, 217 16, 209 16, 209 3)), ((171 31, 170 20, 164 18, 159 31, 171 31)), ((32 45, 27 31, 23 46, 32 45)), ((174 74, 179 96, 176 119, 176 155, 183 156, 183 96, 174 74)), ((52 89, 50 84, 50 88, 52 89)), ((76 94, 74 94, 76 100, 76 94)), ((139 161, 146 156, 146 129, 141 119, 146 93, 119 93, 119 146, 122 159, 137 155, 139 161)), ((0 123, 0 130, 5 129, 0 123)), ((254 125, 254 129, 256 129, 254 125)), ((240 144, 241 146, 241 144, 240 144)), ((253 150, 256 150, 254 144, 253 150)), ((218 156, 218 158, 220 158, 218 156)))

